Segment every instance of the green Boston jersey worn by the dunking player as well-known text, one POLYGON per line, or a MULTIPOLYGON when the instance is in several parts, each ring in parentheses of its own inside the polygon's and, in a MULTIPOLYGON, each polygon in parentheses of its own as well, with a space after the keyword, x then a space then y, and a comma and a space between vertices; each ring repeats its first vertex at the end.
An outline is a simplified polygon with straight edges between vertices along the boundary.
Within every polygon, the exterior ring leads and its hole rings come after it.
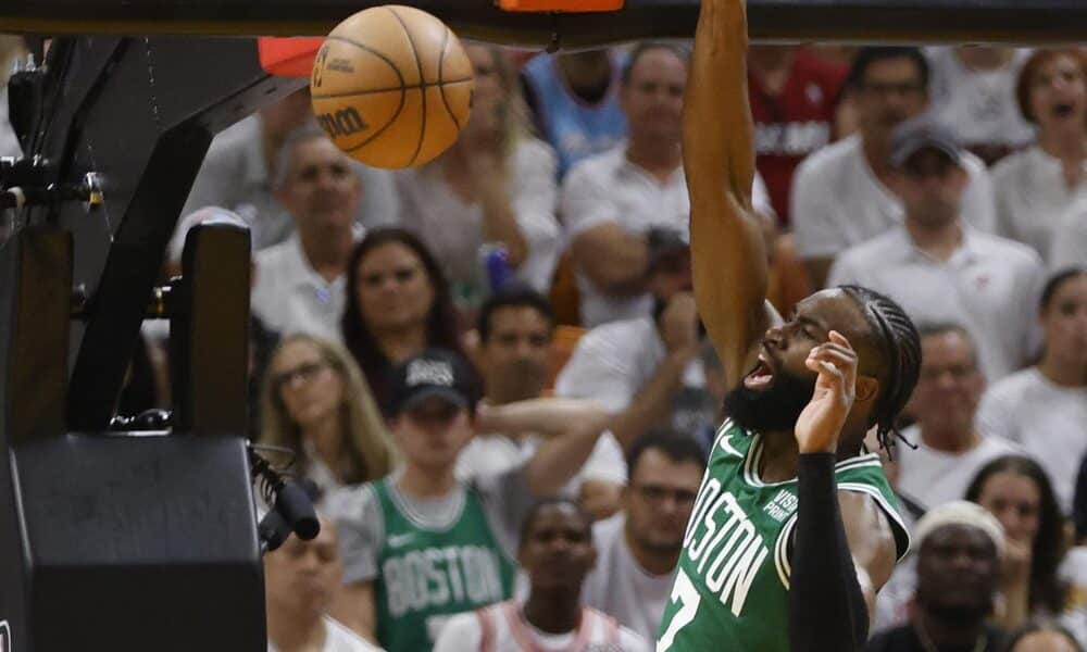
MULTIPOLYGON (((797 480, 763 482, 761 436, 726 421, 691 511, 657 652, 789 650, 790 538, 797 480)), ((887 514, 899 559, 910 537, 879 457, 839 462, 839 491, 871 496, 887 514)))

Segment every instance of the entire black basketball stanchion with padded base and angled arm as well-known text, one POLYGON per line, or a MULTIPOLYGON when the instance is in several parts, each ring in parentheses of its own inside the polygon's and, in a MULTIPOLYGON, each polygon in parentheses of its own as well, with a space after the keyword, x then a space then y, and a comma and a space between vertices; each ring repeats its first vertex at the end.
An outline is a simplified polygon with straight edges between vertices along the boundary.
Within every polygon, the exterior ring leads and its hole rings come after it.
MULTIPOLYGON (((264 652, 249 234, 193 228, 157 285, 212 135, 304 82, 245 39, 58 38, 45 64, 11 96, 26 155, 0 161, 2 652, 264 652), (173 412, 117 415, 149 312, 173 412)), ((297 493, 273 503, 307 535, 297 493)))

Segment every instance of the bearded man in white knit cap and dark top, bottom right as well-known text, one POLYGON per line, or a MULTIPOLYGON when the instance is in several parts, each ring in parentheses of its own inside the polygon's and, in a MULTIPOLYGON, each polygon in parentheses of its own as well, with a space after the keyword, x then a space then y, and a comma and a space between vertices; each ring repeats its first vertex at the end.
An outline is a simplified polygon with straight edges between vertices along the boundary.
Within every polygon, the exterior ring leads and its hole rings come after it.
POLYGON ((944 503, 917 522, 917 589, 910 622, 876 634, 867 652, 1002 650, 1004 635, 986 625, 1000 580, 1004 531, 984 507, 944 503))

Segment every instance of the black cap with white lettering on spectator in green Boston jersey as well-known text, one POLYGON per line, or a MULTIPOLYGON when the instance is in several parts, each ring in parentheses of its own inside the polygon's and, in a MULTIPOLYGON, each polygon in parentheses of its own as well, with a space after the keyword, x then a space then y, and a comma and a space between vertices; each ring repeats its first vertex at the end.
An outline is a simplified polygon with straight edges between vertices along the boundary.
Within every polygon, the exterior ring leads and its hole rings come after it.
POLYGON ((475 373, 461 355, 426 349, 392 369, 387 412, 401 414, 430 398, 473 410, 478 400, 475 373))

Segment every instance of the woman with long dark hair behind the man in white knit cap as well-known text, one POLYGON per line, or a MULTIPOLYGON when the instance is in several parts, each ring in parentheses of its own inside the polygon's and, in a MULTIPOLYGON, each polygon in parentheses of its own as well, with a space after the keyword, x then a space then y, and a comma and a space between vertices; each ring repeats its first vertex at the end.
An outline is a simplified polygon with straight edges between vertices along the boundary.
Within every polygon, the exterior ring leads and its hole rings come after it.
POLYGON ((997 457, 974 476, 966 500, 1004 527, 1000 625, 1014 629, 1032 616, 1060 614, 1065 590, 1057 568, 1064 556, 1064 522, 1041 466, 1024 455, 997 457))

